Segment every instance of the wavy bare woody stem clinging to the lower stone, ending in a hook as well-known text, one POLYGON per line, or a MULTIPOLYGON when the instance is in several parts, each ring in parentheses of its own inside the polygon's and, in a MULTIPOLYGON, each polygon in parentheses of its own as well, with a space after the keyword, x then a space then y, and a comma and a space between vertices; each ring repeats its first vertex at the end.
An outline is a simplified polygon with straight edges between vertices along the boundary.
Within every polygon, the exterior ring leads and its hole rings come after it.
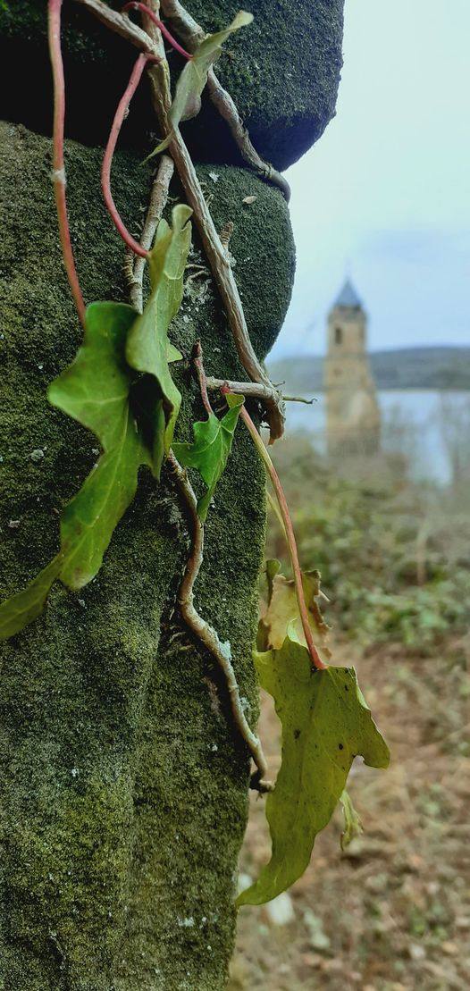
POLYGON ((193 589, 202 564, 204 528, 197 515, 197 501, 192 490, 192 486, 179 462, 176 461, 176 457, 173 452, 170 453, 168 464, 175 474, 177 485, 183 495, 184 502, 190 516, 192 528, 191 552, 186 564, 186 570, 184 572, 184 577, 182 579, 178 594, 181 615, 189 629, 191 629, 198 639, 202 641, 204 646, 207 647, 208 651, 215 658, 224 673, 235 724, 237 725, 243 739, 247 743, 253 760, 258 768, 256 775, 254 775, 252 779, 252 786, 259 792, 269 792, 273 790, 273 785, 271 782, 266 780, 266 774, 268 772, 266 757, 263 753, 263 747, 260 739, 251 729, 243 711, 240 699, 240 690, 238 688, 237 679, 231 662, 230 645, 226 643, 223 644, 220 641, 215 629, 213 629, 212 626, 209 626, 209 624, 202 619, 194 607, 193 589))

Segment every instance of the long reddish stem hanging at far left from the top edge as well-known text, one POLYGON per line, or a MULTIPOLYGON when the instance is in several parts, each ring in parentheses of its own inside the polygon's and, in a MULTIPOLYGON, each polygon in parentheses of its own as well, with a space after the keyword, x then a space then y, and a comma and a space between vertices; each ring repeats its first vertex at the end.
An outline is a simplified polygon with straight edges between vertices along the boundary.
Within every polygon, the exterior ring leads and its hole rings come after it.
POLYGON ((63 264, 81 324, 85 323, 85 304, 78 281, 70 241, 66 209, 65 165, 63 158, 63 128, 65 120, 65 81, 60 50, 60 13, 62 0, 49 0, 49 51, 54 78, 54 191, 59 221, 59 237, 63 264))

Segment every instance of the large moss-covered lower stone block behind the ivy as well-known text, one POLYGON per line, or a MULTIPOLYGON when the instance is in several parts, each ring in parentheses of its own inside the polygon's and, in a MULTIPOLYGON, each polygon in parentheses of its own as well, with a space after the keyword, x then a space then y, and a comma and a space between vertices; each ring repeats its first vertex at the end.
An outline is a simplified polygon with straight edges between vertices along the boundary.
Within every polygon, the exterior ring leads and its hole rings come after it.
MULTIPOLYGON (((96 441, 46 400, 80 338, 59 255, 50 143, 2 124, 0 156, 2 187, 9 195, 15 188, 14 205, 2 197, 0 216, 0 582, 8 595, 55 552, 58 510, 92 466, 96 441), (38 463, 35 448, 45 451, 38 463)), ((123 251, 101 205, 100 158, 67 147, 72 240, 87 300, 122 298, 123 251)), ((120 153, 113 167, 133 231, 149 183, 138 163, 120 153)), ((217 226, 235 224, 235 272, 264 356, 291 291, 286 205, 243 170, 217 168, 216 182, 209 171, 200 175, 217 226), (249 194, 258 198, 247 207, 249 194)), ((197 243, 192 260, 201 260, 197 243)), ((177 317, 175 343, 187 354, 200 337, 208 370, 238 376, 217 295, 197 284, 177 317)), ((182 439, 202 410, 187 364, 177 374, 182 439)), ((264 516, 263 473, 240 427, 209 514, 196 604, 231 641, 253 717, 264 516)), ((218 672, 174 613, 186 554, 171 480, 156 487, 143 472, 96 580, 77 595, 58 586, 45 614, 2 647, 0 987, 224 986, 248 760, 218 672)))

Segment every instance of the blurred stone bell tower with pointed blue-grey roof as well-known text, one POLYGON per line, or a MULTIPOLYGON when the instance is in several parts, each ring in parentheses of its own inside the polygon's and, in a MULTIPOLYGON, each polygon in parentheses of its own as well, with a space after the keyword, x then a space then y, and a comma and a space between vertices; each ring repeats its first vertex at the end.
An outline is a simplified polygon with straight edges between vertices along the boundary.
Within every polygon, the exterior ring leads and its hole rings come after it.
POLYGON ((380 448, 380 408, 367 354, 367 315, 349 279, 328 314, 324 364, 330 455, 370 455, 380 448))

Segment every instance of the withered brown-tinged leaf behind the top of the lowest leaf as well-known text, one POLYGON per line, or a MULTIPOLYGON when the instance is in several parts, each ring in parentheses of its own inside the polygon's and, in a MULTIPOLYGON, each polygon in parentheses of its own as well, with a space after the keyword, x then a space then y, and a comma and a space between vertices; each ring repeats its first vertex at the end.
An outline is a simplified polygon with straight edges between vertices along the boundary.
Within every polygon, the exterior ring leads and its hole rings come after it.
MULTIPOLYGON (((260 630, 258 644, 266 650, 276 647, 279 650, 285 641, 289 626, 294 621, 296 638, 300 643, 305 644, 305 638, 298 614, 298 606, 295 596, 295 586, 293 580, 288 580, 280 572, 279 561, 266 562, 266 577, 268 580, 268 608, 260 619, 260 630)), ((305 597, 305 604, 308 612, 310 626, 315 636, 320 641, 320 651, 325 658, 331 657, 331 652, 327 646, 327 637, 330 627, 321 615, 318 600, 322 593, 320 589, 320 573, 318 571, 302 572, 302 587, 305 597)))

